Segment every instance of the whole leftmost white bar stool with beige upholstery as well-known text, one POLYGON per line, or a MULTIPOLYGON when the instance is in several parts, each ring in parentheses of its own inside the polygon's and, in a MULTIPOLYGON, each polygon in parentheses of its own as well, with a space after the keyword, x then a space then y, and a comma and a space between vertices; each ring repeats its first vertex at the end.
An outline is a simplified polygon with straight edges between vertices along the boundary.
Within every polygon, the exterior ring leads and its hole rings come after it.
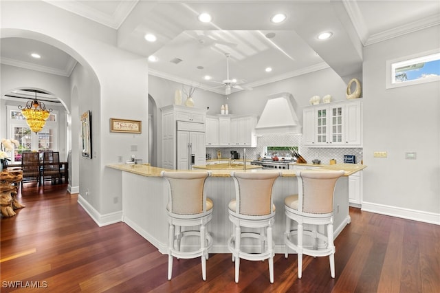
POLYGON ((206 197, 204 184, 210 172, 166 172, 161 175, 168 182, 168 280, 173 275, 173 258, 201 257, 201 276, 206 281, 206 259, 212 237, 206 225, 212 219, 212 200, 206 197), (200 226, 199 230, 197 227, 200 226), (182 230, 182 227, 184 228, 182 230), (188 230, 186 230, 188 229, 188 230), (181 250, 184 237, 198 237, 199 246, 181 250))

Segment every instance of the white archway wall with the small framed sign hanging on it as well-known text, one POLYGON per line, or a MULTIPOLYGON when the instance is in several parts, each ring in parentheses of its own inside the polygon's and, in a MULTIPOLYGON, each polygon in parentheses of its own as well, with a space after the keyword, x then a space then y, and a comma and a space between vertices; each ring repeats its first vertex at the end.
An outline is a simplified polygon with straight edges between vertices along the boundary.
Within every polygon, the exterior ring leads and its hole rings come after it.
MULTIPOLYGON (((117 162, 118 155, 128 157, 132 145, 137 146, 139 157, 148 154, 147 131, 141 134, 111 133, 110 118, 141 120, 148 129, 148 65, 146 58, 118 50, 115 47, 117 33, 104 25, 89 21, 43 1, 2 1, 1 36, 21 36, 37 39, 73 56, 85 72, 80 76, 96 76, 100 84, 92 96, 81 96, 86 104, 78 107, 78 116, 83 107, 90 107, 93 118, 93 159, 85 162, 72 153, 72 164, 79 164, 83 177, 81 192, 89 189, 94 200, 89 203, 89 212, 102 223, 116 221, 113 215, 121 209, 118 175, 105 166, 117 162), (87 99, 91 99, 88 100, 87 99), (84 165, 84 166, 83 166, 84 165), (103 216, 109 215, 109 216, 103 216)), ((71 92, 74 93, 72 86, 71 92)), ((72 101, 72 104, 78 101, 72 101)), ((79 104, 78 104, 79 105, 79 104)), ((73 114, 72 114, 73 115, 73 114)), ((78 116, 72 116, 72 138, 79 138, 78 116)), ((72 142, 74 149, 75 142, 72 142)), ((78 151, 77 151, 78 152, 78 151)), ((74 174, 73 174, 74 175, 74 174)), ((120 175, 120 174, 119 174, 120 175)), ((120 177, 120 176, 119 176, 120 177)), ((80 195, 83 195, 80 193, 80 195)))

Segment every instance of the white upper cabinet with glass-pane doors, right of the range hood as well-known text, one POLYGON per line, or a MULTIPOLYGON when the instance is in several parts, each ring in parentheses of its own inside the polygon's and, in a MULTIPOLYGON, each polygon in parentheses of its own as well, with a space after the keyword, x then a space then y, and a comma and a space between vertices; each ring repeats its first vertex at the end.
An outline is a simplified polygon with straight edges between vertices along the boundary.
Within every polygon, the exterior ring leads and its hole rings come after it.
POLYGON ((362 99, 303 110, 304 143, 319 147, 362 147, 362 99))

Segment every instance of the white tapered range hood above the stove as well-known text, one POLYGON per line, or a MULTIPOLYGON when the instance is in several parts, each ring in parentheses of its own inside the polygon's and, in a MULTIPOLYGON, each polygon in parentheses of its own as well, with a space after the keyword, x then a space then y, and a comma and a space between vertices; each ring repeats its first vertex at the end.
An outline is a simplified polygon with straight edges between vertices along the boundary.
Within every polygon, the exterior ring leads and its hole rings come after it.
POLYGON ((291 97, 289 93, 273 94, 268 97, 255 127, 256 135, 301 133, 301 124, 290 101, 291 97))

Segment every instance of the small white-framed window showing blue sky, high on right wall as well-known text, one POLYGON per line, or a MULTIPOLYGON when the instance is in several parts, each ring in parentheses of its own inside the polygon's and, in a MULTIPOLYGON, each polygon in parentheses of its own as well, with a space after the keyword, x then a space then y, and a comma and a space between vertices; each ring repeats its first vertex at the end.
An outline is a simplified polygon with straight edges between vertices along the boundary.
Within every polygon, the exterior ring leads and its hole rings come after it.
POLYGON ((386 61, 386 88, 440 80, 440 52, 423 52, 386 61))

